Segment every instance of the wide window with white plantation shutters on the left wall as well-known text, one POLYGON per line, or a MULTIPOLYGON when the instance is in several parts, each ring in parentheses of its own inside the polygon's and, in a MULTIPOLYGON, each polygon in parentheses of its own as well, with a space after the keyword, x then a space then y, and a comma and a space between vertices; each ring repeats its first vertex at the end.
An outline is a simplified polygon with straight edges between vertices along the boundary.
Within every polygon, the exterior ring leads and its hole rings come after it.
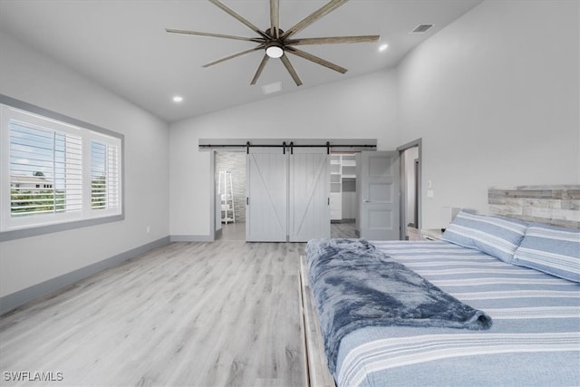
POLYGON ((122 215, 122 136, 66 117, 0 108, 3 234, 122 215))

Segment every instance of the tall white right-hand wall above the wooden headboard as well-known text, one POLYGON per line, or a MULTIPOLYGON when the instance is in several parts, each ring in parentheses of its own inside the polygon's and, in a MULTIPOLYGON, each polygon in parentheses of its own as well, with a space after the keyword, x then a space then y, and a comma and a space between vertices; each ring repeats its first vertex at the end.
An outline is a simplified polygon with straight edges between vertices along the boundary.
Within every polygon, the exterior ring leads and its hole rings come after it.
POLYGON ((486 213, 490 186, 580 183, 578 8, 484 2, 399 65, 398 139, 422 138, 423 227, 440 227, 442 206, 486 213))

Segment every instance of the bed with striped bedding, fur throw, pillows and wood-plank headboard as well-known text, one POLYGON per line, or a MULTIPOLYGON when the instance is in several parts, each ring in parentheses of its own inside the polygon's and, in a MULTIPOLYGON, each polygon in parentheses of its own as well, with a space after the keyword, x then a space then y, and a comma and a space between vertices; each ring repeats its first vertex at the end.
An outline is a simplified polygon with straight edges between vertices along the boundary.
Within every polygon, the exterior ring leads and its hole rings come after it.
MULTIPOLYGON (((580 187, 492 189, 489 202, 502 217, 461 211, 444 241, 308 243, 301 289, 310 385, 580 385, 580 187), (328 305, 348 304, 339 291, 358 288, 357 270, 375 276, 379 270, 368 262, 411 270, 383 276, 404 276, 405 286, 411 276, 430 298, 434 291, 450 295, 453 310, 467 313, 459 320, 481 324, 441 324, 430 313, 435 324, 424 324, 408 310, 402 323, 396 315, 375 324, 376 311, 361 306, 366 299, 358 306, 371 322, 344 323, 344 315, 358 312, 328 305), (336 280, 343 264, 345 282, 336 280)), ((385 294, 392 286, 380 285, 385 294)))

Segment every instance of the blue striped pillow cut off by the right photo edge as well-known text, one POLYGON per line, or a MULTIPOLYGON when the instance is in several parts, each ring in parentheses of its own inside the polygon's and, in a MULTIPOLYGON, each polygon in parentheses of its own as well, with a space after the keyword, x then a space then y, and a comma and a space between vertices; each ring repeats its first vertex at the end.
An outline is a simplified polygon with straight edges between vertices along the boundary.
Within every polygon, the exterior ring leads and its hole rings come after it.
POLYGON ((580 282, 580 230, 532 223, 512 263, 580 282))

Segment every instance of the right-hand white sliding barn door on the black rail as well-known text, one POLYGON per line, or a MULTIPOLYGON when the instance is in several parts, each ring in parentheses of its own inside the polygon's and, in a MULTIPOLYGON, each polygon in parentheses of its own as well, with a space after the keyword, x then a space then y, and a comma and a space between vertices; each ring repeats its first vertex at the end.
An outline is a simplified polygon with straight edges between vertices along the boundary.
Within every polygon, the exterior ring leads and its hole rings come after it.
POLYGON ((297 148, 289 158, 290 242, 330 237, 330 173, 326 150, 297 148))

